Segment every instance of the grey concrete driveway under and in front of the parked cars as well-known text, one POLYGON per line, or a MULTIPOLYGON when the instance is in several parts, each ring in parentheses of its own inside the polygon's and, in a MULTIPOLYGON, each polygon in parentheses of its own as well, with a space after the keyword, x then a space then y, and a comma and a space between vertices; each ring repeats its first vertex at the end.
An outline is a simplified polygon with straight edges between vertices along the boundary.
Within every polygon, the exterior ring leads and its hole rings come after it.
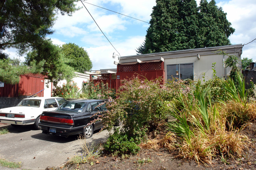
MULTIPOLYGON (((68 138, 43 134, 33 126, 7 126, 9 133, 0 135, 0 158, 20 162, 20 169, 41 170, 47 166, 63 165, 68 158, 82 152, 84 140, 78 135, 68 138)), ((87 144, 103 143, 108 138, 108 131, 95 132, 86 139, 87 144)), ((0 170, 9 170, 0 166, 0 170)), ((17 169, 16 169, 17 170, 17 169)))

